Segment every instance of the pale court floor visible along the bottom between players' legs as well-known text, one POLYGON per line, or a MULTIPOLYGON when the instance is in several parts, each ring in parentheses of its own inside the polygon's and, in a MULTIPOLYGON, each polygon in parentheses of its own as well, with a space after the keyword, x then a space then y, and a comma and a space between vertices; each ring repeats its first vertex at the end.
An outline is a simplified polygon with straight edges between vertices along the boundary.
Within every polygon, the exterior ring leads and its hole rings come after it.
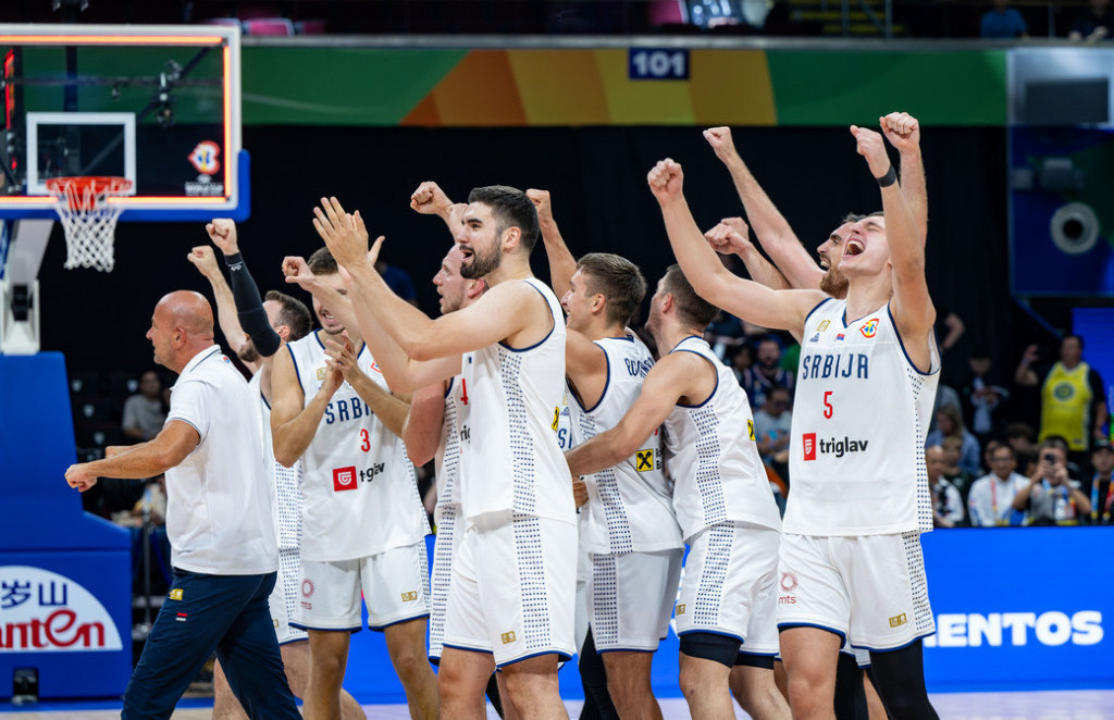
MULTIPOLYGON (((1077 690, 1057 692, 962 692, 932 695, 941 720, 1114 720, 1114 690, 1077 690)), ((3 720, 110 720, 119 717, 118 706, 90 704, 97 709, 82 710, 79 703, 63 707, 14 708, 0 704, 3 720)), ((579 714, 580 702, 565 703, 569 717, 579 714)), ((364 706, 370 720, 408 720, 405 706, 364 706)), ((670 698, 662 700, 662 711, 666 720, 688 718, 684 700, 670 698)), ((174 713, 173 720, 209 720, 212 708, 188 708, 174 713)), ((747 716, 736 710, 736 716, 747 716)), ((489 718, 497 718, 494 711, 489 718)))

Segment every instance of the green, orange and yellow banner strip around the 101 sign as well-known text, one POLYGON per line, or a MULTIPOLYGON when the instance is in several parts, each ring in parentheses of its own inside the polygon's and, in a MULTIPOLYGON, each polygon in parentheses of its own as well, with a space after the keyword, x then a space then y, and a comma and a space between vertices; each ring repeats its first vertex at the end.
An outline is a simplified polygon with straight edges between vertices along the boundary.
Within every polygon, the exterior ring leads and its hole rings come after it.
POLYGON ((662 79, 632 71, 646 65, 639 48, 243 52, 246 125, 832 126, 891 109, 932 125, 1006 120, 1004 50, 691 49, 662 79))

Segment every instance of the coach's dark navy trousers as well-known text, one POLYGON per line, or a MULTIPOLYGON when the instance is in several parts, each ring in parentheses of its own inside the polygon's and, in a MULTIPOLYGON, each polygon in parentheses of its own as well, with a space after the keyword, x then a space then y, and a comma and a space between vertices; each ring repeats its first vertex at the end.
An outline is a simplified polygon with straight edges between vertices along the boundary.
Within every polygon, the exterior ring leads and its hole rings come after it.
POLYGON ((124 693, 120 718, 169 718, 215 649, 250 718, 301 720, 267 607, 274 586, 275 573, 202 575, 175 568, 170 593, 124 693))

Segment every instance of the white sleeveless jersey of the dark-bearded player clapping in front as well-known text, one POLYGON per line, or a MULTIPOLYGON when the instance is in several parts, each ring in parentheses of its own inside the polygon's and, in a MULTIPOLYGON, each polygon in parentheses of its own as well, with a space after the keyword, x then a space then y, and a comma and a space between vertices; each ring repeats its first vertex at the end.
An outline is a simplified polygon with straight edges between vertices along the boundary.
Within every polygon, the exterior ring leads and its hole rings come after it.
POLYGON ((465 517, 522 514, 575 523, 571 477, 557 442, 565 390, 565 324, 556 295, 528 283, 549 304, 553 330, 520 350, 495 343, 465 353, 460 428, 460 503, 465 517))

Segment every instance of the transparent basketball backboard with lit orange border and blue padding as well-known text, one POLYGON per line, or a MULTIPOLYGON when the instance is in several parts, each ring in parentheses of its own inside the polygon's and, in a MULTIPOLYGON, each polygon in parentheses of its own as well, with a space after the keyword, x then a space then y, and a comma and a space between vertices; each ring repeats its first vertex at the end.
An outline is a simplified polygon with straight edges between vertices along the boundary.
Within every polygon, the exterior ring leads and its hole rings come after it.
POLYGON ((0 218, 52 217, 52 177, 131 181, 121 221, 245 220, 240 28, 0 25, 0 218))

